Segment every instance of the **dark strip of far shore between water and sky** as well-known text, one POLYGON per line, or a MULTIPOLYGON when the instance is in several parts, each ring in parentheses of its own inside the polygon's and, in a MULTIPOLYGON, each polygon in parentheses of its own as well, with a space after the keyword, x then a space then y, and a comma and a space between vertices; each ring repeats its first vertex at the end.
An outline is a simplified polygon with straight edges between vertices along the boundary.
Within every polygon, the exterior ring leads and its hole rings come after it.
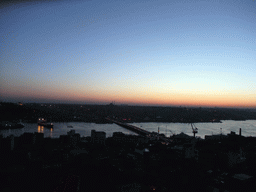
POLYGON ((36 123, 39 117, 51 122, 108 123, 106 117, 122 122, 221 122, 256 119, 255 109, 186 108, 122 105, 78 105, 0 103, 0 121, 36 123))

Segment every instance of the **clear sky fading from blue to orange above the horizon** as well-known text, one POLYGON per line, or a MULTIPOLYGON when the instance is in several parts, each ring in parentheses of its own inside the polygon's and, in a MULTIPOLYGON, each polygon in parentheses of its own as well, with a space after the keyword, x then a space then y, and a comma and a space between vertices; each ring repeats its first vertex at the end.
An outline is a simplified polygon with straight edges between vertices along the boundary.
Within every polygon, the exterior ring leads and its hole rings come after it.
POLYGON ((256 1, 0 9, 2 101, 256 107, 256 1))

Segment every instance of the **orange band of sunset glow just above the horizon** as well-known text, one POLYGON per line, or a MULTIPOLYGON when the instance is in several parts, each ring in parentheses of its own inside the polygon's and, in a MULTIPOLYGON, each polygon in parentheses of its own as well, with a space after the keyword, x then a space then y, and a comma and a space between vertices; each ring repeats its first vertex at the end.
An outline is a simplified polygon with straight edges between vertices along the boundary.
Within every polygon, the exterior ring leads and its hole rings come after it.
MULTIPOLYGON (((17 95, 9 91, 4 95, 17 95)), ((196 92, 153 92, 153 91, 84 91, 84 90, 48 90, 48 92, 28 91, 19 94, 20 98, 37 98, 37 100, 52 100, 72 103, 111 103, 129 105, 164 105, 164 106, 202 106, 202 107, 256 107, 256 94, 246 93, 196 93, 196 92)))

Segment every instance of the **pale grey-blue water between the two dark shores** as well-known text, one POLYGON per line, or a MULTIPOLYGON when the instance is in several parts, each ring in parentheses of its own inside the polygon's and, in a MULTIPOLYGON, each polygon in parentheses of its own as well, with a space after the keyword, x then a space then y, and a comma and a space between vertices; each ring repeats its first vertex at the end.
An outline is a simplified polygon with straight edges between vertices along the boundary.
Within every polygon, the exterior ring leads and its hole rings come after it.
MULTIPOLYGON (((256 120, 248 120, 248 121, 232 121, 225 120, 223 123, 196 123, 196 127, 198 128, 198 133, 196 136, 200 136, 204 138, 205 135, 212 134, 228 134, 230 131, 235 131, 237 134, 239 133, 239 128, 242 128, 243 136, 253 136, 256 137, 256 120), (221 129, 222 128, 222 129, 221 129)), ((123 132, 125 134, 132 134, 132 131, 129 131, 125 128, 122 128, 116 124, 95 124, 95 123, 84 123, 84 122, 62 122, 62 123, 54 123, 54 128, 45 128, 44 126, 37 125, 37 123, 24 123, 25 127, 22 129, 9 129, 9 130, 0 130, 0 134, 3 134, 3 137, 7 137, 9 135, 14 135, 15 137, 19 137, 24 132, 38 132, 44 133, 44 137, 51 138, 59 138, 60 135, 66 135, 71 128, 67 128, 67 125, 72 124, 76 133, 79 133, 81 137, 91 136, 91 130, 94 129, 96 131, 104 131, 106 132, 106 137, 112 137, 113 132, 123 132)), ((143 127, 143 129, 147 131, 158 131, 166 136, 170 136, 173 133, 179 134, 184 132, 188 135, 193 135, 192 128, 190 124, 184 123, 131 123, 134 126, 143 127)))

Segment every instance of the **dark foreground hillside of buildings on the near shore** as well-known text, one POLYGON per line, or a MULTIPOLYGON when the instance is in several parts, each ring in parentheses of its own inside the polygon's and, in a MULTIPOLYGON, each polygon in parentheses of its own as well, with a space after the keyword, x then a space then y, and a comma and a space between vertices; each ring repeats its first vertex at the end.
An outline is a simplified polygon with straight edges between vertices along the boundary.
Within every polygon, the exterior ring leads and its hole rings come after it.
POLYGON ((256 138, 155 138, 70 130, 0 137, 2 191, 254 191, 256 138))

